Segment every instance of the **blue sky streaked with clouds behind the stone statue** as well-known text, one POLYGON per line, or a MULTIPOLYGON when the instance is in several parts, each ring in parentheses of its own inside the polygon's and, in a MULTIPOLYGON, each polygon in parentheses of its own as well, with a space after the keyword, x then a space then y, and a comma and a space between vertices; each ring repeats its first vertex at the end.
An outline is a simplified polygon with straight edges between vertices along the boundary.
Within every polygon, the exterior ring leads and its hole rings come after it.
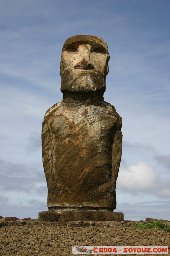
POLYGON ((42 120, 62 100, 63 43, 86 34, 108 45, 104 99, 123 122, 115 211, 125 220, 168 220, 170 2, 1 0, 0 7, 0 215, 47 210, 42 120))

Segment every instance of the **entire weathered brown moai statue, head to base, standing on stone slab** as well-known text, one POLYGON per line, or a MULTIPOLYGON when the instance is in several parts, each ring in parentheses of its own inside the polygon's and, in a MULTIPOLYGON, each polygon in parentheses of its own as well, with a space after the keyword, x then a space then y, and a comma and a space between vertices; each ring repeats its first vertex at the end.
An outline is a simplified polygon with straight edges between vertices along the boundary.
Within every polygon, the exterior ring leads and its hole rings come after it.
POLYGON ((72 36, 63 45, 63 100, 48 109, 42 125, 49 210, 116 208, 122 118, 103 99, 109 57, 96 36, 72 36))

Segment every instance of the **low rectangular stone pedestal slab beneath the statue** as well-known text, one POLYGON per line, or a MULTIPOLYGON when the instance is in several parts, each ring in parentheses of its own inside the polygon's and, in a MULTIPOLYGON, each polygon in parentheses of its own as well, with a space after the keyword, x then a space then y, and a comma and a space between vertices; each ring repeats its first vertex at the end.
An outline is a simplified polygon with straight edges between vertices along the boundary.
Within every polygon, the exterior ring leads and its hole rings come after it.
POLYGON ((108 211, 64 211, 64 212, 39 212, 39 220, 48 221, 122 221, 124 214, 122 212, 108 211))

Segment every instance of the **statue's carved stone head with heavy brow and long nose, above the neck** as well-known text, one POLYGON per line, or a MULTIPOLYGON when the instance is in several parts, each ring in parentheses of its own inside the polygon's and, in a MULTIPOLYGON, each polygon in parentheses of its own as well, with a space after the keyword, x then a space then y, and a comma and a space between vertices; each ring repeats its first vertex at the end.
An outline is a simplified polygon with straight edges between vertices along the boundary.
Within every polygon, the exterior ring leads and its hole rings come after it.
POLYGON ((61 91, 105 92, 109 54, 107 44, 96 36, 72 36, 63 45, 61 91))

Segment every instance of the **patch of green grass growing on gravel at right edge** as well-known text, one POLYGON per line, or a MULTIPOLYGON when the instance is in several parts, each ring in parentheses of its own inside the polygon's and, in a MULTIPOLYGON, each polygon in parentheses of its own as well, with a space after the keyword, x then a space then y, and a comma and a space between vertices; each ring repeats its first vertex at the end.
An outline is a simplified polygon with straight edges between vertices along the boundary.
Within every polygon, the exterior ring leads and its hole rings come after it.
POLYGON ((133 228, 139 228, 139 229, 152 229, 152 230, 163 230, 166 232, 170 232, 170 225, 166 224, 165 222, 161 220, 151 220, 150 223, 143 222, 136 222, 133 225, 133 228))

